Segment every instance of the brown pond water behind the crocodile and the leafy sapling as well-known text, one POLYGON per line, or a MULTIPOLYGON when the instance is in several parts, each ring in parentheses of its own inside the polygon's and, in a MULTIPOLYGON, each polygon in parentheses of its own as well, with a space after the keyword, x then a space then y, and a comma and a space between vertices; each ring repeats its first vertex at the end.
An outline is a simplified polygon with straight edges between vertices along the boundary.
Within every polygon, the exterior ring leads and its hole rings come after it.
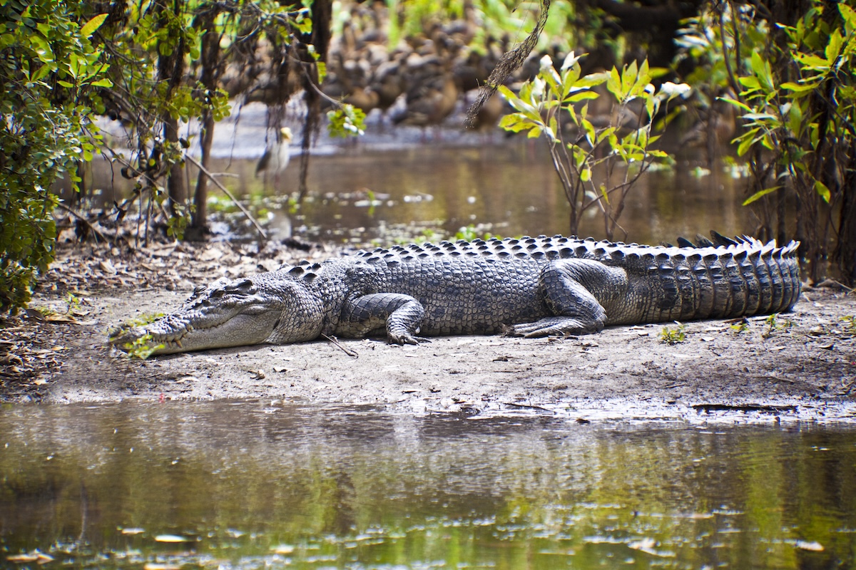
MULTIPOLYGON (((358 146, 313 156, 311 164, 310 199, 296 216, 288 213, 288 197, 297 189, 298 167, 277 181, 256 178, 254 161, 247 159, 220 159, 211 169, 228 173, 223 184, 253 203, 254 211, 270 211, 270 227, 280 235, 294 231, 340 243, 389 241, 396 226, 413 223, 447 235, 461 226, 480 226, 501 236, 568 233, 570 210, 543 143, 425 144, 399 150, 358 146), (262 195, 270 199, 263 201, 262 195)), ((681 159, 674 171, 647 173, 639 180, 620 219, 627 241, 656 244, 710 229, 726 235, 751 231, 751 212, 740 206, 745 181, 724 171, 698 176, 693 164, 681 159)), ((107 204, 131 190, 128 180, 103 164, 92 183, 106 189, 107 204)), ((212 187, 211 196, 220 193, 212 187)), ((605 237, 603 219, 590 212, 580 234, 605 237)))

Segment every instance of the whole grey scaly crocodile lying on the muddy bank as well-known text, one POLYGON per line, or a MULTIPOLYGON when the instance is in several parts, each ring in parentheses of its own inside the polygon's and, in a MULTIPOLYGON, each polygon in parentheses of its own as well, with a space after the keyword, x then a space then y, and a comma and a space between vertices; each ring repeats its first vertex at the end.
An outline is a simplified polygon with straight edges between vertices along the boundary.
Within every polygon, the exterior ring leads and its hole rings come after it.
POLYGON ((594 239, 490 239, 361 250, 199 286, 181 309, 111 332, 157 353, 286 344, 321 335, 544 337, 603 326, 786 311, 800 297, 791 242, 755 238, 648 246, 594 239))

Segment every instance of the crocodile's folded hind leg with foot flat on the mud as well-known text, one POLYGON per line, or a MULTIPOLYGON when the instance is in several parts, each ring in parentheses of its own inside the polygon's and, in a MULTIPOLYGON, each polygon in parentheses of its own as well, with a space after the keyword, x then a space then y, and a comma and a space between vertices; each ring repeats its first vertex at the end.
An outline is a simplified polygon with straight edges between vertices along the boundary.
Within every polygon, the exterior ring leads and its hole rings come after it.
POLYGON ((627 291, 627 274, 587 259, 556 260, 541 272, 538 287, 554 316, 508 327, 515 337, 546 337, 600 332, 606 323, 603 302, 627 291), (592 292, 597 292, 597 296, 592 292))

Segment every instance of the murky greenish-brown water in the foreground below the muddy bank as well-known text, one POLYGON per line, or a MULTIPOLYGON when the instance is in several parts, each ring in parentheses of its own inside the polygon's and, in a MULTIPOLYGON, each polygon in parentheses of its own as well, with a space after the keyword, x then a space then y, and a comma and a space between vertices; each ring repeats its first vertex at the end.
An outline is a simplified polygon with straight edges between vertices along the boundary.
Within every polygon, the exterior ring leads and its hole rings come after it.
POLYGON ((0 434, 0 567, 856 566, 852 430, 226 402, 0 434))

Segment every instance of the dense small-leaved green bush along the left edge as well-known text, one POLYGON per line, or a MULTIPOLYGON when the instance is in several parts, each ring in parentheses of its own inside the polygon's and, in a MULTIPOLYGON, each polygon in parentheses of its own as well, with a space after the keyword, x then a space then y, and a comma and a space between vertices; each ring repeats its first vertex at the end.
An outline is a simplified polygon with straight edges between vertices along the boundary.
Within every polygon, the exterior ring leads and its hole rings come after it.
POLYGON ((92 34, 104 15, 86 18, 76 2, 0 3, 0 311, 15 313, 53 259, 62 174, 92 160, 98 137, 89 116, 98 89, 112 85, 92 34))

